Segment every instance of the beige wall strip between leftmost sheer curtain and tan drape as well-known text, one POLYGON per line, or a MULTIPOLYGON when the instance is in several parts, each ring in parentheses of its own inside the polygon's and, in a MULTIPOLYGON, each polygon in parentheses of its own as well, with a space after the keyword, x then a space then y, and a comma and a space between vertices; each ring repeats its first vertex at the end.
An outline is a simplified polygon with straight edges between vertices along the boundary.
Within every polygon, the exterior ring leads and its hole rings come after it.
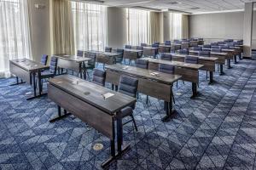
POLYGON ((39 61, 42 54, 50 54, 49 43, 49 0, 30 0, 32 24, 33 59, 39 61), (44 4, 44 8, 35 8, 35 4, 44 4))

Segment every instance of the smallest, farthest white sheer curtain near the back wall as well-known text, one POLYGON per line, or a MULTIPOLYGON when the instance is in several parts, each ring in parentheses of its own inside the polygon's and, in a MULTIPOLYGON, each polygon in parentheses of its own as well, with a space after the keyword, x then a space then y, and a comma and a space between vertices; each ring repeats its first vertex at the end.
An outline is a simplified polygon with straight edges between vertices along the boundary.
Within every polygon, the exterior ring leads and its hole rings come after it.
POLYGON ((182 14, 171 13, 171 37, 174 39, 182 38, 182 14))

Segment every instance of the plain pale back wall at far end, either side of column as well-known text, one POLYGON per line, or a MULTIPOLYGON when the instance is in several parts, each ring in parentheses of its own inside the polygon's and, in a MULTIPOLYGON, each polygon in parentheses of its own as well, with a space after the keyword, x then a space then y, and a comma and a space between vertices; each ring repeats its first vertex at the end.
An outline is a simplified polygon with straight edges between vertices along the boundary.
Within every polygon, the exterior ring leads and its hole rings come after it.
MULTIPOLYGON (((206 42, 217 42, 227 38, 242 39, 243 17, 243 12, 190 15, 189 37, 203 37, 206 42)), ((255 11, 253 20, 253 30, 255 30, 255 11)), ((253 31, 253 48, 256 49, 255 31, 253 31)))

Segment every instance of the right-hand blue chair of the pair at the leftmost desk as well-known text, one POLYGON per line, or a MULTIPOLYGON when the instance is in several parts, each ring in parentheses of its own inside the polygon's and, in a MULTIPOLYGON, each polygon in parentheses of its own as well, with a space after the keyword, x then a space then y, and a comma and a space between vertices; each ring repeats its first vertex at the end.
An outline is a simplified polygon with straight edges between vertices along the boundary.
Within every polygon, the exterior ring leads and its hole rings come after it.
POLYGON ((47 82, 47 79, 55 77, 57 71, 58 58, 52 56, 49 62, 49 69, 41 72, 41 88, 43 88, 43 82, 47 82))

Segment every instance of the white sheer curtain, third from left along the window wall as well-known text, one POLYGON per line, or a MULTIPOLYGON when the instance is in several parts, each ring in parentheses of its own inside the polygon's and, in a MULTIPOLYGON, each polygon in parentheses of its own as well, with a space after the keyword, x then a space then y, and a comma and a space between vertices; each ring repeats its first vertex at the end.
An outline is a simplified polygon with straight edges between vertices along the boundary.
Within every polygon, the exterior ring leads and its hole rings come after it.
POLYGON ((140 45, 149 43, 150 18, 149 11, 127 9, 128 18, 128 44, 140 45))

